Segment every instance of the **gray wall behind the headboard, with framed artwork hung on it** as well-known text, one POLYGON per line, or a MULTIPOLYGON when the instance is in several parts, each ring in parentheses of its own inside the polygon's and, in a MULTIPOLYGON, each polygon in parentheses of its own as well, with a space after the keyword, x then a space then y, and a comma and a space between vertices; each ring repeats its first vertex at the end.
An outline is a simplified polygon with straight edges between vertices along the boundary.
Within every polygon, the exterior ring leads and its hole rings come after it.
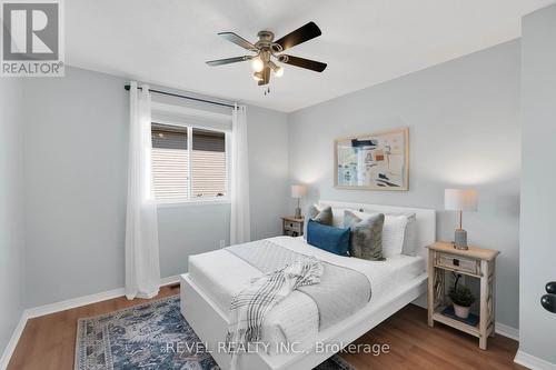
MULTIPOLYGON (((437 237, 453 240, 444 189, 473 187, 479 211, 464 214, 469 242, 502 251, 497 321, 518 327, 518 41, 504 43, 290 116, 290 180, 309 201, 341 200, 438 210, 437 237), (409 191, 334 189, 334 139, 409 127, 409 191)), ((370 68, 369 72, 373 72, 370 68)))

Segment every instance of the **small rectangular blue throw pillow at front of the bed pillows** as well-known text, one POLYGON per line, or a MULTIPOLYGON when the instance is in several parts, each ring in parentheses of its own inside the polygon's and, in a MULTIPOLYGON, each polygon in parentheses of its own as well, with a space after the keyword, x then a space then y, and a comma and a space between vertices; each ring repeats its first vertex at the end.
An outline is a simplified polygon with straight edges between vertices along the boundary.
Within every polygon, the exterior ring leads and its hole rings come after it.
POLYGON ((309 220, 307 224, 307 242, 338 256, 348 256, 349 229, 340 229, 309 220))

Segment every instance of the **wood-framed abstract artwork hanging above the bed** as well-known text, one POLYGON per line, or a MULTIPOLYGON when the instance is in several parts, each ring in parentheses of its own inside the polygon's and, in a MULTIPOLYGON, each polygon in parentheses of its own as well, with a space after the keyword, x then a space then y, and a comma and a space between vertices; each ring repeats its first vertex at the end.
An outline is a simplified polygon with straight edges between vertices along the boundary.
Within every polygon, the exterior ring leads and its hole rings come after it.
POLYGON ((334 149, 335 188, 409 189, 408 128, 336 139, 334 149))

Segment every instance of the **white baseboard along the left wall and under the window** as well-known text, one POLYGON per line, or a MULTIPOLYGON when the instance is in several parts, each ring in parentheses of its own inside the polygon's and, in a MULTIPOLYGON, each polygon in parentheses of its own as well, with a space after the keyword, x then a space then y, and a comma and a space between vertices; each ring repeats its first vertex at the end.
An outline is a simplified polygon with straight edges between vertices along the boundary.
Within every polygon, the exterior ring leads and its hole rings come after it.
MULTIPOLYGON (((160 280, 160 286, 169 286, 169 284, 173 284, 177 282, 179 282, 179 276, 162 278, 160 280)), ((32 318, 37 318, 40 316, 44 316, 44 314, 66 311, 66 310, 69 310, 69 309, 76 308, 76 307, 81 307, 81 306, 87 306, 87 304, 91 304, 91 303, 106 301, 106 300, 122 297, 122 296, 125 296, 125 289, 118 288, 118 289, 112 289, 112 290, 96 293, 96 294, 72 298, 72 299, 61 301, 61 302, 33 307, 33 308, 23 310, 23 312, 21 313, 21 319, 19 320, 18 326, 13 330, 13 333, 11 334, 10 341, 8 342, 8 346, 6 346, 6 349, 2 353, 2 357, 0 358, 0 370, 6 370, 6 368, 8 367, 8 363, 10 362, 11 356, 13 354, 13 351, 16 350, 16 346, 18 344, 19 338, 21 337, 21 333, 23 332, 23 329, 26 328, 27 320, 32 319, 32 318)))

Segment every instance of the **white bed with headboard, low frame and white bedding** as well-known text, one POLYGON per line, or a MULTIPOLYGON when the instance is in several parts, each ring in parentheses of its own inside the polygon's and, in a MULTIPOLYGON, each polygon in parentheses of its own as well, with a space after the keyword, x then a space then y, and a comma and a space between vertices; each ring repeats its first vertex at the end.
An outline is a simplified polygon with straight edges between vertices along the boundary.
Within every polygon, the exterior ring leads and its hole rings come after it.
MULTIPOLYGON (((301 292, 292 292, 265 318, 264 341, 269 346, 256 353, 239 356, 238 369, 312 369, 332 356, 334 350, 349 344, 426 292, 424 247, 435 241, 434 210, 332 201, 320 201, 319 204, 330 206, 338 213, 344 209, 415 213, 417 231, 415 238, 419 252, 415 257, 400 254, 386 262, 374 262, 319 250, 307 244, 302 237, 267 239, 265 242, 277 248, 315 256, 322 261, 344 264, 366 274, 371 282, 373 294, 363 309, 328 328, 319 329, 318 308, 315 302, 301 292), (287 353, 276 351, 280 348, 280 343, 288 342, 295 342, 295 347, 290 348, 292 351, 287 353), (318 347, 316 343, 319 343, 318 347)), ((228 328, 229 303, 251 278, 260 274, 257 268, 222 249, 191 256, 188 273, 180 278, 181 313, 201 341, 206 342, 212 357, 224 370, 230 368, 231 356, 219 351, 218 348, 228 328)))

